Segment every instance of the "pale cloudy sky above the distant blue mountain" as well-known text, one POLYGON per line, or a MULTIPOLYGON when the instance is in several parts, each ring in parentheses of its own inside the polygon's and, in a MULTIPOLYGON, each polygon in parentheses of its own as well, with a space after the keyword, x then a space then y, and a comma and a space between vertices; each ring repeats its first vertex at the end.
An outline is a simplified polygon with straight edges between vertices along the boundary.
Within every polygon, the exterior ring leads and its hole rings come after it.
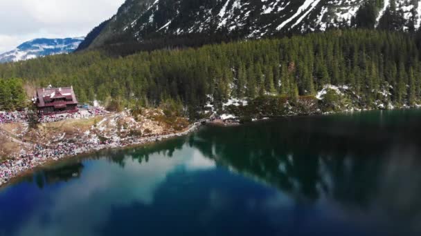
POLYGON ((86 36, 125 0, 0 0, 0 53, 25 41, 86 36))

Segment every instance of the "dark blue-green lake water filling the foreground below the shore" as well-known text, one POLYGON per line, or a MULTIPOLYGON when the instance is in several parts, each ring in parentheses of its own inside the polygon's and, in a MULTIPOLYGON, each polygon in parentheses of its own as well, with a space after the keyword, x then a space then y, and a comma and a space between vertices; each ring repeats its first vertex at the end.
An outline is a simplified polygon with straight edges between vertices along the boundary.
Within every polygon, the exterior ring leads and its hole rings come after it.
POLYGON ((421 111, 205 127, 0 190, 0 235, 420 235, 421 111))

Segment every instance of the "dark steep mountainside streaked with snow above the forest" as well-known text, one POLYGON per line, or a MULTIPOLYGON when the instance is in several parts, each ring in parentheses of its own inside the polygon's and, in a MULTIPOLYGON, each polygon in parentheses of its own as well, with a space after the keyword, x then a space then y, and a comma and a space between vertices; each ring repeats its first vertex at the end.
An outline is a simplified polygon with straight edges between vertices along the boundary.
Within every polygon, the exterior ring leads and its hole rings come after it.
POLYGON ((258 39, 328 28, 420 28, 420 0, 127 0, 84 48, 191 35, 258 39))

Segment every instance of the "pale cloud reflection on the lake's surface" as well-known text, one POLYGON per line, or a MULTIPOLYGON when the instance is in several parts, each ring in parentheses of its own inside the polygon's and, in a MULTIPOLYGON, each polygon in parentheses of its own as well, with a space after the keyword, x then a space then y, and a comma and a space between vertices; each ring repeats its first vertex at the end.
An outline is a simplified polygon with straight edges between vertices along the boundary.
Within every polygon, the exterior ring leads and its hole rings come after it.
POLYGON ((95 230, 109 219, 113 206, 153 204, 156 188, 177 168, 185 167, 188 171, 215 168, 213 160, 186 146, 175 150, 172 158, 160 152, 149 157, 147 163, 139 164, 137 159, 125 156, 124 168, 100 159, 89 171, 82 172, 77 181, 56 191, 43 192, 42 199, 51 199, 53 204, 38 204, 19 226, 17 235, 95 235, 95 230), (39 224, 46 215, 53 223, 39 224))

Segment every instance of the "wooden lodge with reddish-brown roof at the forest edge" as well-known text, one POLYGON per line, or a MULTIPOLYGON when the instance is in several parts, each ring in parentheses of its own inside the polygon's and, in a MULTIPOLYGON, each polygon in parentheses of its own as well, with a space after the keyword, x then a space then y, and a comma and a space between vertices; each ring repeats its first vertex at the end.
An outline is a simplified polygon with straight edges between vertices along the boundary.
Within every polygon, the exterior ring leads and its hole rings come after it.
POLYGON ((35 99, 38 112, 42 115, 78 111, 78 100, 73 86, 70 88, 39 88, 35 99))

